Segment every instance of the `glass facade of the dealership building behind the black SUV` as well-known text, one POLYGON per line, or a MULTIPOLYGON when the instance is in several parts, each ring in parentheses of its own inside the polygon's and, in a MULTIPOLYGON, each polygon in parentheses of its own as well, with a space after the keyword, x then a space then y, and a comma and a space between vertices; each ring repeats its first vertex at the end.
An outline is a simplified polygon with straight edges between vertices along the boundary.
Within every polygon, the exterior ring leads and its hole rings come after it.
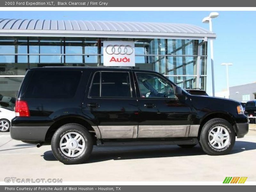
POLYGON ((13 98, 29 68, 103 66, 104 40, 134 41, 135 68, 159 72, 182 88, 206 89, 204 40, 0 37, 0 101, 14 105, 13 98))

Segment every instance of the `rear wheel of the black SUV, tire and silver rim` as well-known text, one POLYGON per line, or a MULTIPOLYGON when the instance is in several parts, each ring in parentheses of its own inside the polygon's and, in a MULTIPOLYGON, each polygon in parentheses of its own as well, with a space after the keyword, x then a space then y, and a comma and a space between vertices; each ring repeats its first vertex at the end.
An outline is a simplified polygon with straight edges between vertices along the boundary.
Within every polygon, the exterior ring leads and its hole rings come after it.
POLYGON ((81 164, 91 155, 93 140, 84 126, 65 124, 53 134, 51 146, 53 155, 63 164, 81 164))

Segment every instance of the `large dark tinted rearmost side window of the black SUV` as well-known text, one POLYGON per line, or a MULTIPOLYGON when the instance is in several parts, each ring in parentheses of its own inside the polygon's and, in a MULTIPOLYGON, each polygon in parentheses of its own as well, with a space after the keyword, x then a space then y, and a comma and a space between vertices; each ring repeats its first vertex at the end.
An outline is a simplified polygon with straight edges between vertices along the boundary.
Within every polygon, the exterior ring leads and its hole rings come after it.
POLYGON ((80 71, 34 71, 25 97, 72 98, 80 78, 80 71))

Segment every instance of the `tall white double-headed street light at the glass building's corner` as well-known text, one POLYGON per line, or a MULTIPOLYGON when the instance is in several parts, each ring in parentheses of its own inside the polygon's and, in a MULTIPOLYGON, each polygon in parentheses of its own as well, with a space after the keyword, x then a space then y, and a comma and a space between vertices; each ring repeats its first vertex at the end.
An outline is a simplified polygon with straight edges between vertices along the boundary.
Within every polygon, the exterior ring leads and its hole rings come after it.
MULTIPOLYGON (((217 12, 211 12, 208 17, 205 17, 202 22, 209 23, 209 29, 212 32, 212 18, 219 16, 217 12)), ((213 65, 213 40, 210 39, 210 50, 211 50, 211 65, 212 65, 212 96, 215 96, 215 86, 214 86, 214 65, 213 65)))

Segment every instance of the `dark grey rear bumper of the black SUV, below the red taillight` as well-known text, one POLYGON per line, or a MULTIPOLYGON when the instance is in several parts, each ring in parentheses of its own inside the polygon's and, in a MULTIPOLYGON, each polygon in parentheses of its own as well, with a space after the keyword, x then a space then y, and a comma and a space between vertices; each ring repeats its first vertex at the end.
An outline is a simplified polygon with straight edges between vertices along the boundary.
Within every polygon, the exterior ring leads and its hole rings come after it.
POLYGON ((22 141, 45 141, 49 126, 11 126, 12 139, 22 141))

